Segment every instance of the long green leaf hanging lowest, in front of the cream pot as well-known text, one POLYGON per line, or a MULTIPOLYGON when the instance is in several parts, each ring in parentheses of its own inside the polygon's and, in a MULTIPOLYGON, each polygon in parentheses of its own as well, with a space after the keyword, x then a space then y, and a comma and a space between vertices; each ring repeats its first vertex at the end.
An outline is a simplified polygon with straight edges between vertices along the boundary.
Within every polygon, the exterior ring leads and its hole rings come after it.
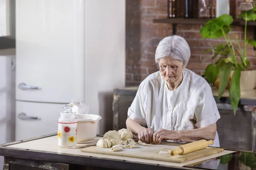
POLYGON ((241 69, 236 68, 230 82, 229 99, 233 108, 233 112, 236 115, 236 109, 240 100, 240 75, 241 69))

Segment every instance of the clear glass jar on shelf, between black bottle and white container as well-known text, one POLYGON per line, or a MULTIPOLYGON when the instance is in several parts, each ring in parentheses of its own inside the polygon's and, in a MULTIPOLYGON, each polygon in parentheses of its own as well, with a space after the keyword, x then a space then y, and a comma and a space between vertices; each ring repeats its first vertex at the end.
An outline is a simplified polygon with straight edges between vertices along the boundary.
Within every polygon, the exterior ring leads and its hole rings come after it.
POLYGON ((199 2, 199 18, 212 17, 212 0, 200 0, 199 2))

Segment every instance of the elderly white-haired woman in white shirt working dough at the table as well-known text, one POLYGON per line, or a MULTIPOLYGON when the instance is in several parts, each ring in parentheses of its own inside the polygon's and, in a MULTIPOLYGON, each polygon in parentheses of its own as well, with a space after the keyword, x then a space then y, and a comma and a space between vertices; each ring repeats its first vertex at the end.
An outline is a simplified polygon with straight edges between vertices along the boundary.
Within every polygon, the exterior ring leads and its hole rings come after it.
POLYGON ((157 71, 141 82, 128 109, 127 128, 140 140, 159 144, 162 140, 195 142, 214 140, 219 147, 216 122, 220 114, 207 81, 185 68, 189 45, 174 35, 157 46, 157 71))

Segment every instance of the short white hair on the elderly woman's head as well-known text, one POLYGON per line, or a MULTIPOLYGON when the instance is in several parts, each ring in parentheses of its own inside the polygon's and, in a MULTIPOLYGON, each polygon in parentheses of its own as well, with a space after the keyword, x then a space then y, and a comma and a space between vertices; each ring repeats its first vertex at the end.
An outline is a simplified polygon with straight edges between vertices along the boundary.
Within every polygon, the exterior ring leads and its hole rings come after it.
POLYGON ((155 54, 157 68, 159 68, 159 59, 166 57, 172 57, 173 59, 178 59, 181 62, 184 62, 185 68, 190 58, 190 48, 186 40, 177 35, 165 37, 163 40, 161 40, 157 45, 155 54))

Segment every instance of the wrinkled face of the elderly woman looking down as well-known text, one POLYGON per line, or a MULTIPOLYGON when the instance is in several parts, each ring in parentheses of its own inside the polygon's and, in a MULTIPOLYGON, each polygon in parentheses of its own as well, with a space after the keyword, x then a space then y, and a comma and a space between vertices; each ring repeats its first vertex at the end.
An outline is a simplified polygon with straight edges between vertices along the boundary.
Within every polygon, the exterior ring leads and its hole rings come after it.
POLYGON ((168 83, 179 81, 182 76, 183 62, 171 57, 159 59, 159 68, 162 77, 168 83))

